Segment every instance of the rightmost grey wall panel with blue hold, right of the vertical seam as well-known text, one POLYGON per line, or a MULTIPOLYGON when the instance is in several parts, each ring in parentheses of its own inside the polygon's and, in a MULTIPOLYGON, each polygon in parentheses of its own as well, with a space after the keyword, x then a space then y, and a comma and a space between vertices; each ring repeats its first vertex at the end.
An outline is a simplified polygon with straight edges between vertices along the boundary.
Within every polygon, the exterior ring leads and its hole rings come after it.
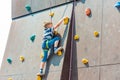
POLYGON ((101 64, 120 63, 120 12, 114 7, 116 2, 104 1, 101 64))

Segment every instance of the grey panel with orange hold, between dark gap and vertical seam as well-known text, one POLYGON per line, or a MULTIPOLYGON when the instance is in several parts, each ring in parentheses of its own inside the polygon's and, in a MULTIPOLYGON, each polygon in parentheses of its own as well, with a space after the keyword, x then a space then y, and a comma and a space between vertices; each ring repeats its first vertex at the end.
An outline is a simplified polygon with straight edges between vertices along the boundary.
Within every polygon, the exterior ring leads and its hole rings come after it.
POLYGON ((83 58, 89 60, 90 66, 99 65, 101 35, 98 38, 94 37, 94 31, 101 33, 101 1, 96 0, 93 3, 92 0, 89 0, 85 4, 77 3, 75 17, 76 34, 80 36, 80 40, 76 41, 78 67, 84 67, 84 64, 81 62, 83 58), (85 15, 86 8, 91 8, 91 17, 85 15))

